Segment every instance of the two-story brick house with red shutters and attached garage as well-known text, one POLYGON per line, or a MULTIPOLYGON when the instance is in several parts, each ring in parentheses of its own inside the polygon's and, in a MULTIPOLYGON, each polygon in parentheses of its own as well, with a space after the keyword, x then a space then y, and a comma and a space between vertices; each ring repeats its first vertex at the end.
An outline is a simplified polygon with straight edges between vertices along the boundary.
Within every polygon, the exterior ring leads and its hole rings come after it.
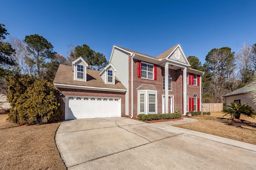
POLYGON ((102 71, 88 69, 82 57, 60 64, 53 83, 62 119, 200 111, 204 72, 189 66, 180 44, 156 57, 114 45, 102 71))

